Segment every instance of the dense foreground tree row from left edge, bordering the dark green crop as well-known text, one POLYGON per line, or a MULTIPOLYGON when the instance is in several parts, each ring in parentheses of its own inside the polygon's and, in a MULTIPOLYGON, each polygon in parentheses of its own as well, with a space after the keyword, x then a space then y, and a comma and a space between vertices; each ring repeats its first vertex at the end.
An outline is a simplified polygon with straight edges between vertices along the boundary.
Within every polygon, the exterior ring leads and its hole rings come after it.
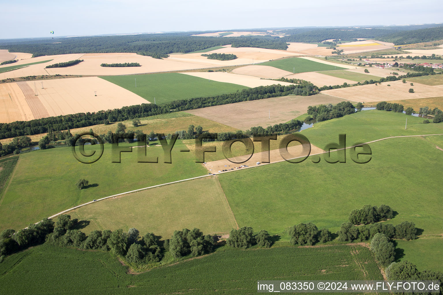
POLYGON ((160 245, 160 237, 153 233, 140 237, 136 228, 130 228, 128 232, 122 229, 94 230, 86 236, 75 229, 76 226, 77 218, 59 215, 55 226, 52 220, 45 219, 17 232, 12 229, 4 230, 0 233, 0 262, 7 255, 45 241, 63 247, 112 251, 136 266, 160 261, 165 251, 176 258, 187 255, 196 257, 212 252, 214 247, 214 238, 209 234, 203 235, 197 228, 176 230, 170 240, 160 245))

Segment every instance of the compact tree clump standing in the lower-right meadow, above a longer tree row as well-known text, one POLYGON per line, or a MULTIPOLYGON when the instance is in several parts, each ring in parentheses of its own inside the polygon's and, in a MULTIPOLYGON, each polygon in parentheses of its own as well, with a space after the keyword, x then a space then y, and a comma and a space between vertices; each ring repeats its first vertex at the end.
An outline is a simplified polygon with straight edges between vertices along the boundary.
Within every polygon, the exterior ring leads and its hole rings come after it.
POLYGON ((394 211, 388 205, 380 207, 365 205, 361 209, 354 209, 348 216, 349 222, 354 225, 370 224, 385 221, 394 217, 394 211))

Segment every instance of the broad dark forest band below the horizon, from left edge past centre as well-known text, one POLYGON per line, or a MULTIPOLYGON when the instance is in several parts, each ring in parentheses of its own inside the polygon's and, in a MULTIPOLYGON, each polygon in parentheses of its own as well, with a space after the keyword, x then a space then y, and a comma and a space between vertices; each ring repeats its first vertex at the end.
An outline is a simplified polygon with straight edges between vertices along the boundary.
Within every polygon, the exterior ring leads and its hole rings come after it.
POLYGON ((173 52, 188 53, 228 44, 233 44, 233 47, 246 46, 282 50, 288 48, 280 38, 271 36, 215 38, 175 33, 72 37, 58 38, 58 41, 61 41, 61 43, 54 44, 54 39, 20 42, 5 42, 2 40, 0 41, 0 49, 8 49, 10 52, 31 53, 35 56, 42 54, 131 52, 162 58, 173 52))

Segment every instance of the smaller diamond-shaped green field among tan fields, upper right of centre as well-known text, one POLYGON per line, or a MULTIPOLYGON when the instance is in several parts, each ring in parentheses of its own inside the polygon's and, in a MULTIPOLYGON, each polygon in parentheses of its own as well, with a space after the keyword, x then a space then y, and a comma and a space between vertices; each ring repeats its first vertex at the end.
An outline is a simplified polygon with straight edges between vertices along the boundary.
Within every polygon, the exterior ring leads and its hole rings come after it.
POLYGON ((338 65, 326 65, 308 59, 291 57, 275 61, 266 61, 260 65, 269 65, 274 68, 282 69, 291 73, 315 72, 315 71, 329 71, 334 69, 344 69, 338 65), (295 68, 295 70, 294 70, 295 68))

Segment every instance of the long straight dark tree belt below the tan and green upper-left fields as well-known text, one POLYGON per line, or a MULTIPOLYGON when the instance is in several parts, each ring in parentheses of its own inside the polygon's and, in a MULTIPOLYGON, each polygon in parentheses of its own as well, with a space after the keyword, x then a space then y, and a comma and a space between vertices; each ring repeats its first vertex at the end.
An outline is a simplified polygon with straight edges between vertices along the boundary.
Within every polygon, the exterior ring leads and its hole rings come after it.
MULTIPOLYGON (((154 103, 142 103, 120 109, 98 111, 93 113, 78 113, 72 115, 60 115, 34 119, 31 121, 16 121, 12 123, 0 123, 0 139, 12 138, 22 135, 32 135, 48 132, 48 130, 67 130, 68 128, 81 128, 107 122, 124 121, 129 119, 143 118, 152 115, 161 115, 174 111, 186 111, 201 107, 236 103, 246 100, 260 100, 270 97, 286 96, 292 94, 294 89, 305 89, 303 85, 282 86, 269 85, 243 89, 238 92, 222 94, 210 97, 198 97, 189 100, 175 100, 163 105, 154 103)), ((316 92, 307 92, 308 95, 316 92)))

